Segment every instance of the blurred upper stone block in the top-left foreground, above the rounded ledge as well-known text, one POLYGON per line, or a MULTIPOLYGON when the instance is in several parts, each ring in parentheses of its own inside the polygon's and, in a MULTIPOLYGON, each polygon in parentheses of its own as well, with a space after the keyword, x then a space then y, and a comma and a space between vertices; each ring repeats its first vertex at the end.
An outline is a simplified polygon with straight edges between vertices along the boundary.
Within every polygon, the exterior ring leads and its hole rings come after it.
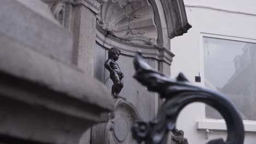
POLYGON ((60 27, 41 1, 1 1, 0 32, 61 61, 72 62, 72 34, 60 27))

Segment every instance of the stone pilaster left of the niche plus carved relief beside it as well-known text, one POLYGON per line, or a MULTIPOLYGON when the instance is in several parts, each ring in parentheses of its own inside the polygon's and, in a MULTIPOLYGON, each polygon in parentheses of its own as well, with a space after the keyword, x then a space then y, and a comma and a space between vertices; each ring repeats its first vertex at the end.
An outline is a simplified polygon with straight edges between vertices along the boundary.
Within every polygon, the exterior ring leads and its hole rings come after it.
POLYGON ((43 0, 49 5, 62 27, 73 32, 73 63, 85 74, 94 73, 96 15, 101 3, 97 0, 43 0))

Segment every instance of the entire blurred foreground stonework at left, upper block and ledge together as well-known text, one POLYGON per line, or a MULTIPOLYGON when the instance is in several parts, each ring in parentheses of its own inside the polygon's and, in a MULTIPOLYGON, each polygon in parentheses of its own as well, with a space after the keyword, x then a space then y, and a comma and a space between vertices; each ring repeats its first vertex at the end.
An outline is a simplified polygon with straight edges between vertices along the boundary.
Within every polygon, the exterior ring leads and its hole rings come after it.
POLYGON ((41 1, 0 2, 0 143, 79 143, 108 121, 107 88, 72 62, 72 33, 41 1))

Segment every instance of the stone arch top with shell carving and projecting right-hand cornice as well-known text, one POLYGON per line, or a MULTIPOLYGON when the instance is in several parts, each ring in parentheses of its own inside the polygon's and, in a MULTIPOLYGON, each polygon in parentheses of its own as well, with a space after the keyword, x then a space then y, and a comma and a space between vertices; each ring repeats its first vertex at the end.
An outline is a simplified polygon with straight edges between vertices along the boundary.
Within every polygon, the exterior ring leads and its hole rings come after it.
POLYGON ((121 40, 169 49, 170 39, 191 28, 183 0, 101 1, 97 24, 121 40))

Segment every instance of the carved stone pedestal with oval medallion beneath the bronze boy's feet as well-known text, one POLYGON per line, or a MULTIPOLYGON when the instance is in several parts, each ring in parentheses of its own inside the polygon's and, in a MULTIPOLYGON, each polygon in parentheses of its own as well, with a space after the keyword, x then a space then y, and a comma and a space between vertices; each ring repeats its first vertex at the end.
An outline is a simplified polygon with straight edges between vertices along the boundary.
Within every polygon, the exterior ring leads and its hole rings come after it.
POLYGON ((92 127, 91 144, 137 143, 132 139, 131 127, 138 120, 136 108, 128 101, 117 99, 109 121, 92 127))

